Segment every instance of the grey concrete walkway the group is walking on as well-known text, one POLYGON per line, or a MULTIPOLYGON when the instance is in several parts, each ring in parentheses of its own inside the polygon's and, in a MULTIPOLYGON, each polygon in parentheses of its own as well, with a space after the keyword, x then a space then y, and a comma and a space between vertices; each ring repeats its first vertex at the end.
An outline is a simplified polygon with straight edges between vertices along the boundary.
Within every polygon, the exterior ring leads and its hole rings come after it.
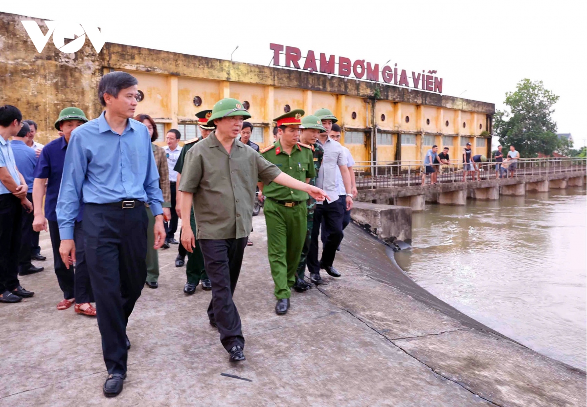
POLYGON ((0 406, 585 406, 585 372, 484 330, 410 283, 385 246, 350 225, 343 273, 292 294, 276 316, 265 222, 254 218, 235 293, 247 361, 228 362, 205 310, 183 294, 177 246, 160 250, 160 288, 145 287, 129 322, 128 378, 114 399, 96 320, 62 298, 46 271, 22 277, 35 296, 0 304, 0 406), (247 380, 225 377, 236 375, 247 380))

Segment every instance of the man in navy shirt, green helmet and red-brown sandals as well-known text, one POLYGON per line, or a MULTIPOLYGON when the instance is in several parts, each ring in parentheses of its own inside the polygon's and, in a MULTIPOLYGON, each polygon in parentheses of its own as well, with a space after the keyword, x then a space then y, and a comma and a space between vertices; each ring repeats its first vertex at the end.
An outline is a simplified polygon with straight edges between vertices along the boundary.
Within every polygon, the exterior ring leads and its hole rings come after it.
POLYGON ((63 263, 59 254, 61 238, 59 236, 57 213, 55 212, 59 186, 61 185, 63 174, 65 152, 68 148, 69 139, 72 131, 86 122, 86 115, 77 107, 64 108, 59 113, 57 121, 55 121, 55 128, 61 131, 63 135, 45 145, 41 151, 41 155, 39 155, 39 162, 35 167, 35 181, 33 182, 35 218, 33 219, 33 230, 35 232, 49 230, 51 246, 53 247, 55 274, 59 288, 63 291, 63 299, 57 304, 57 309, 66 310, 75 303, 74 310, 76 313, 95 316, 96 309, 90 304, 94 300, 90 285, 90 276, 87 273, 85 245, 83 243, 83 206, 80 207, 80 211, 76 216, 73 232, 77 260, 75 273, 72 268, 63 263), (45 199, 45 215, 43 215, 43 196, 45 196, 45 192, 47 196, 45 199))

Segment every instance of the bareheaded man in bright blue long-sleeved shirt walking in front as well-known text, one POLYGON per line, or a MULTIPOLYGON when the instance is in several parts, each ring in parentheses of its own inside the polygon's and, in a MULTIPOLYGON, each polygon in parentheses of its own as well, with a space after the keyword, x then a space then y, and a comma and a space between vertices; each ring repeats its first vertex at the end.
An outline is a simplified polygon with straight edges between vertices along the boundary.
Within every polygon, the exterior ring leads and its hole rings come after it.
POLYGON ((149 130, 133 120, 137 79, 111 72, 98 86, 104 111, 72 131, 57 201, 65 264, 75 262, 73 230, 83 197, 86 264, 96 300, 102 351, 109 373, 104 395, 120 394, 126 379, 126 325, 147 279, 147 212, 155 216, 154 248, 165 242, 163 193, 149 130))

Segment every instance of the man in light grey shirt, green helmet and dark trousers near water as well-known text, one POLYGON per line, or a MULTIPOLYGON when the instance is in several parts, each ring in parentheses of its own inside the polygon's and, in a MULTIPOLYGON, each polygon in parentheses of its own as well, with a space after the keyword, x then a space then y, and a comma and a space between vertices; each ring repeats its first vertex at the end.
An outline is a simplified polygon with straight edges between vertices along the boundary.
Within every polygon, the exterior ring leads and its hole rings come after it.
POLYGON ((353 194, 345 151, 338 141, 328 137, 330 131, 332 131, 332 125, 338 119, 332 114, 332 111, 326 108, 318 109, 314 116, 318 116, 322 120, 322 126, 326 129, 325 133, 319 134, 316 141, 324 149, 324 157, 318 171, 318 178, 316 178, 316 186, 323 189, 332 199, 316 202, 310 250, 308 252, 307 262, 310 280, 314 284, 321 284, 320 269, 326 270, 326 273, 332 277, 340 277, 340 273, 332 263, 336 257, 336 249, 338 249, 343 236, 342 220, 345 216, 345 209, 350 211, 353 207, 353 194), (345 195, 343 196, 339 195, 336 188, 336 169, 339 169, 343 185, 345 185, 345 195), (318 260, 318 236, 322 219, 324 219, 325 229, 328 230, 328 238, 322 250, 322 258, 318 260))

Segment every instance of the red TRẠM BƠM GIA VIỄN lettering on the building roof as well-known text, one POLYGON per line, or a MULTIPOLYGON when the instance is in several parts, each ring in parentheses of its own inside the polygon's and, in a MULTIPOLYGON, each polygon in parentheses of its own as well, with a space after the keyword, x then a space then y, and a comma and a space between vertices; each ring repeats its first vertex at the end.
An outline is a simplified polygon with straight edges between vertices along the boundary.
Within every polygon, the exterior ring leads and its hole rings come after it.
POLYGON ((308 72, 336 74, 348 77, 353 74, 357 79, 442 93, 442 78, 434 75, 436 70, 429 70, 428 72, 422 70, 421 73, 411 71, 411 76, 409 76, 408 72, 405 69, 399 69, 397 64, 394 64, 394 67, 384 65, 379 69, 379 64, 365 62, 364 59, 357 59, 355 62, 352 62, 344 56, 337 58, 335 55, 329 55, 326 57, 325 53, 320 53, 319 57, 316 58, 316 54, 312 50, 309 50, 306 56, 303 57, 302 66, 302 52, 299 48, 270 43, 269 49, 273 50, 274 66, 284 66, 303 69, 308 72), (284 56, 283 59, 281 58, 282 53, 284 56), (336 69, 336 65, 338 65, 338 69, 336 69))

